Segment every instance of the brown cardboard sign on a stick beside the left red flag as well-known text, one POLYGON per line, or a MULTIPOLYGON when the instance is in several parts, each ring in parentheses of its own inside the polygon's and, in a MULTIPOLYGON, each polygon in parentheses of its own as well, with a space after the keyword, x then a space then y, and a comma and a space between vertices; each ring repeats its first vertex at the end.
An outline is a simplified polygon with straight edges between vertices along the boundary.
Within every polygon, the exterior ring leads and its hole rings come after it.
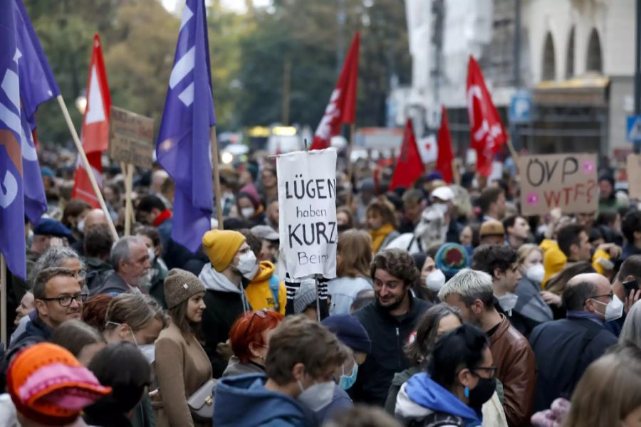
POLYGON ((135 112, 111 107, 109 157, 151 169, 154 151, 154 120, 135 112))

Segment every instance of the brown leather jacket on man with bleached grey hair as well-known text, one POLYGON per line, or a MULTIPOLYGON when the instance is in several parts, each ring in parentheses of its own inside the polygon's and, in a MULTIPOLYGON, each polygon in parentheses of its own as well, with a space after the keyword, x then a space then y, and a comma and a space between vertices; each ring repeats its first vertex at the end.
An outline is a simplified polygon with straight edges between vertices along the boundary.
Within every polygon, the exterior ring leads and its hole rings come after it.
POLYGON ((499 328, 490 337, 496 377, 504 386, 503 407, 510 427, 528 426, 536 389, 536 361, 528 340, 501 315, 499 328))

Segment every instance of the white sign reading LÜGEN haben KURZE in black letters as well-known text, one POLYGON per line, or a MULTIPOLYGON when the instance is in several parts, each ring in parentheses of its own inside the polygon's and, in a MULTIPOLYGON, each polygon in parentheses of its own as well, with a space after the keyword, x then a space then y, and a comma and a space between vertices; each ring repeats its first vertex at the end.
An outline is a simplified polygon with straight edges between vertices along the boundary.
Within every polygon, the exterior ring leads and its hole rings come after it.
POLYGON ((276 159, 281 251, 292 278, 336 277, 336 150, 276 159))

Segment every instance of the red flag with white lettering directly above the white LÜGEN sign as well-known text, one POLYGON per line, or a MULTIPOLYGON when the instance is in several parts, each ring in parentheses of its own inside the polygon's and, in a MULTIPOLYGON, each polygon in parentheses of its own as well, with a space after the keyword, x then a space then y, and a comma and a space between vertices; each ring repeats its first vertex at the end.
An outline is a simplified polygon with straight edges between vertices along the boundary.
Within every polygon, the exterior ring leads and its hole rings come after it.
POLYGON ((345 57, 343 70, 320 119, 310 149, 323 149, 330 146, 332 137, 340 134, 343 123, 353 123, 356 113, 356 85, 358 83, 358 50, 360 33, 354 34, 352 46, 345 57))

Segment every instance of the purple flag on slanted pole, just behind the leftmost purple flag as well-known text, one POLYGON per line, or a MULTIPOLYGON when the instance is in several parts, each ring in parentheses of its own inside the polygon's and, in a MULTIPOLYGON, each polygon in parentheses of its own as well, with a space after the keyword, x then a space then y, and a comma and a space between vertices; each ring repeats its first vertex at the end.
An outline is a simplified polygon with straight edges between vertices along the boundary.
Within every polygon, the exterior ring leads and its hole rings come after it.
POLYGON ((15 37, 19 51, 20 100, 25 113, 21 117, 23 132, 20 139, 24 176, 24 211, 29 221, 35 224, 47 211, 47 199, 32 133, 36 130, 36 110, 43 102, 58 96, 60 89, 40 46, 36 31, 31 26, 22 0, 9 0, 4 3, 12 4, 14 9, 15 37))

